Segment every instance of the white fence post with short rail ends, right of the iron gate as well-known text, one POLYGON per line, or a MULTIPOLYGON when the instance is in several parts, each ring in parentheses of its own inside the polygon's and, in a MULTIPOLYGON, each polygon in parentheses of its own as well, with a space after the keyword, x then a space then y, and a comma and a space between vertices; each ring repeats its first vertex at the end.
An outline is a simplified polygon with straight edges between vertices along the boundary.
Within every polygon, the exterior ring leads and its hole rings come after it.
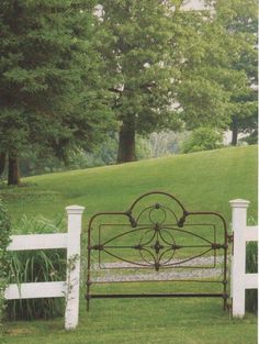
POLYGON ((232 299, 233 315, 245 315, 246 289, 258 289, 258 274, 246 274, 246 243, 258 242, 258 226, 247 225, 247 209, 249 201, 236 199, 232 206, 232 226, 234 249, 232 257, 232 299))

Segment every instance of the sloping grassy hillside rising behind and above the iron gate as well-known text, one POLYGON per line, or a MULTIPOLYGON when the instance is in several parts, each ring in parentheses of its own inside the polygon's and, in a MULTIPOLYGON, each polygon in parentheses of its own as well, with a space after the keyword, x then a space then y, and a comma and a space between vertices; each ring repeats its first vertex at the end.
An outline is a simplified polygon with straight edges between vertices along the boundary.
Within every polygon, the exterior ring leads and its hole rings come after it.
MULTIPOLYGON (((12 220, 64 213, 68 204, 94 212, 124 211, 142 193, 162 190, 174 195, 190 211, 218 211, 229 221, 228 201, 248 199, 257 214, 257 146, 223 148, 168 156, 124 165, 24 178, 24 187, 3 188, 12 220)), ((86 220, 87 220, 86 219, 86 220)))

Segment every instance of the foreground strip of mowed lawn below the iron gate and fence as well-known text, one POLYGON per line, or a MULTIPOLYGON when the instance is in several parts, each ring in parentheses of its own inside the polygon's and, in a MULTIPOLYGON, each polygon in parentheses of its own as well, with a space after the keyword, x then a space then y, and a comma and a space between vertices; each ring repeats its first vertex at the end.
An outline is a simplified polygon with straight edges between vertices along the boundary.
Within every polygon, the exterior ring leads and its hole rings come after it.
MULTIPOLYGON (((162 287, 164 288, 164 287, 162 287)), ((161 289, 162 289, 161 288, 161 289)), ((143 286, 137 286, 138 291, 143 286)), ((81 300, 76 331, 64 320, 16 322, 7 325, 13 344, 256 344, 256 318, 230 320, 218 299, 92 300, 87 313, 81 300)))

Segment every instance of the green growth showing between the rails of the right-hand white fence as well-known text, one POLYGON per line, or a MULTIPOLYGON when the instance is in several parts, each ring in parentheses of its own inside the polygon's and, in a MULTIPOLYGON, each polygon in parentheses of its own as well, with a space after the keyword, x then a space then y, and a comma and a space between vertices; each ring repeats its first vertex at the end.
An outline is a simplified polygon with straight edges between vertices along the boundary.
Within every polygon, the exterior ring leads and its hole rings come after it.
MULTIPOLYGON (((247 244, 246 273, 258 273, 258 243, 249 242, 247 244)), ((258 312, 258 291, 257 289, 246 290, 246 310, 248 312, 258 312)))

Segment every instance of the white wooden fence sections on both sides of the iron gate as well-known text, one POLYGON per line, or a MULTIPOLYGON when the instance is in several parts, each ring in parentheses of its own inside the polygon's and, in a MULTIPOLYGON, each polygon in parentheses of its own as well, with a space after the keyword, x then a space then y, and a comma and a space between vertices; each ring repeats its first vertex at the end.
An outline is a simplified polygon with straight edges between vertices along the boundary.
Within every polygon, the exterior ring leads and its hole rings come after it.
MULTIPOLYGON (((233 200, 232 226, 234 249, 232 257, 233 315, 245 315, 245 290, 258 288, 258 274, 246 274, 246 242, 258 241, 258 226, 247 226, 249 201, 233 200)), ((67 207, 68 231, 59 234, 12 235, 9 251, 67 249, 66 281, 29 282, 9 285, 4 297, 8 300, 30 298, 66 298, 65 329, 78 325, 80 286, 80 234, 85 208, 67 207)))

